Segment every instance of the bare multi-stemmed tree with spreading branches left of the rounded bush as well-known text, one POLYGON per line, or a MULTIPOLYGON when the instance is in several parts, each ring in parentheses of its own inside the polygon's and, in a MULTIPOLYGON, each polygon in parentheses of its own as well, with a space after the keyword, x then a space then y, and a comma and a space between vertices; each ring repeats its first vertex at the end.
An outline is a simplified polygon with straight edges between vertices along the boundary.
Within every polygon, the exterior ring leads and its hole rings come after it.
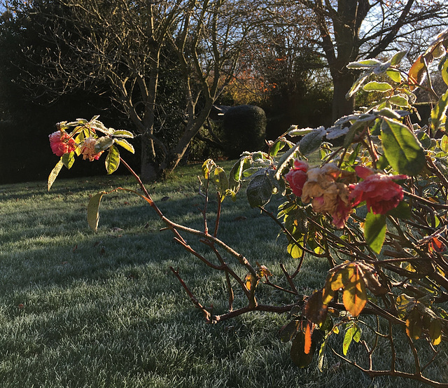
POLYGON ((35 95, 110 92, 140 135, 142 178, 156 179, 179 163, 232 77, 246 34, 235 6, 228 0, 17 2, 15 20, 36 20, 50 47, 23 48, 40 66, 25 82, 34 85, 35 95), (160 76, 167 66, 172 71, 165 74, 179 76, 183 96, 176 139, 160 109, 160 76))

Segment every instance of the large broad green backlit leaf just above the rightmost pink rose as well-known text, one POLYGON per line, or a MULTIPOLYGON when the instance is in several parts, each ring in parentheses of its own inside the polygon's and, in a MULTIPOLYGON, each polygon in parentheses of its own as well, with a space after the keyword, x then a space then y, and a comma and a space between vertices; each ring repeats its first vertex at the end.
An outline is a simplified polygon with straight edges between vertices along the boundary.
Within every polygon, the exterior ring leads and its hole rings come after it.
POLYGON ((384 118, 381 143, 389 164, 400 174, 417 175, 426 165, 423 148, 408 127, 384 118))

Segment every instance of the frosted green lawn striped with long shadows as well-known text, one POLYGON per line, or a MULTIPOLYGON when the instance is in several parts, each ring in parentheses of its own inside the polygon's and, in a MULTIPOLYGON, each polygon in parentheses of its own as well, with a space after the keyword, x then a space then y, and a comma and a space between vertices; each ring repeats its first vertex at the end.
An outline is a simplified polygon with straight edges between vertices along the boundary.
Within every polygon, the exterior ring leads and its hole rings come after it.
MULTIPOLYGON (((181 167, 172 179, 148 186, 169 218, 195 228, 202 225, 198 174, 198 165, 181 167)), ((160 231, 144 201, 107 195, 98 232, 88 228, 89 196, 116 186, 138 188, 124 176, 57 180, 50 193, 46 182, 0 186, 1 388, 419 387, 389 377, 370 380, 332 354, 322 373, 316 363, 298 369, 290 344, 277 335, 286 316, 253 313, 204 324, 169 267, 179 268, 195 296, 217 312, 226 305, 222 274, 160 231)), ((244 193, 235 203, 225 200, 220 231, 279 282, 278 263, 296 265, 285 240, 277 239, 278 228, 248 207, 244 193)), ((327 269, 325 261, 306 261, 297 289, 317 289, 327 269)), ((258 300, 293 301, 267 286, 259 287, 258 300)), ((349 349, 349 356, 362 354, 358 344, 349 349)), ((444 365, 434 377, 448 380, 444 365)))

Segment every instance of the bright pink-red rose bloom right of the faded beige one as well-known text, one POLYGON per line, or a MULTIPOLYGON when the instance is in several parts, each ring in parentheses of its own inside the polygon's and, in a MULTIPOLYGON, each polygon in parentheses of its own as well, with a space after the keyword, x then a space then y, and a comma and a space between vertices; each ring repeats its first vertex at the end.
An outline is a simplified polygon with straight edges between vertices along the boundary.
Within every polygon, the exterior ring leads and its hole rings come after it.
POLYGON ((403 200, 403 190, 394 181, 407 179, 407 175, 375 174, 363 166, 355 167, 355 171, 364 180, 352 186, 350 199, 353 200, 353 207, 365 201, 369 212, 386 214, 403 200))

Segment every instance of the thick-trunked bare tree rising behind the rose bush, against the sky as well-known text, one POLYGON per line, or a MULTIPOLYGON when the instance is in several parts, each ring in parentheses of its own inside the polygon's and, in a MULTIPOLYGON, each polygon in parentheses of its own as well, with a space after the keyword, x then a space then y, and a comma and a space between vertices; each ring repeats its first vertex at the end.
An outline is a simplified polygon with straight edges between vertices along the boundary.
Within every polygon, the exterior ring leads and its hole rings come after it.
POLYGON ((448 18, 448 5, 439 0, 297 2, 305 13, 311 13, 320 34, 314 43, 328 62, 333 81, 333 120, 350 114, 354 108, 353 97, 345 98, 356 76, 346 68, 347 64, 360 57, 377 57, 395 50, 401 43, 409 43, 409 32, 435 34, 446 26, 448 18))

